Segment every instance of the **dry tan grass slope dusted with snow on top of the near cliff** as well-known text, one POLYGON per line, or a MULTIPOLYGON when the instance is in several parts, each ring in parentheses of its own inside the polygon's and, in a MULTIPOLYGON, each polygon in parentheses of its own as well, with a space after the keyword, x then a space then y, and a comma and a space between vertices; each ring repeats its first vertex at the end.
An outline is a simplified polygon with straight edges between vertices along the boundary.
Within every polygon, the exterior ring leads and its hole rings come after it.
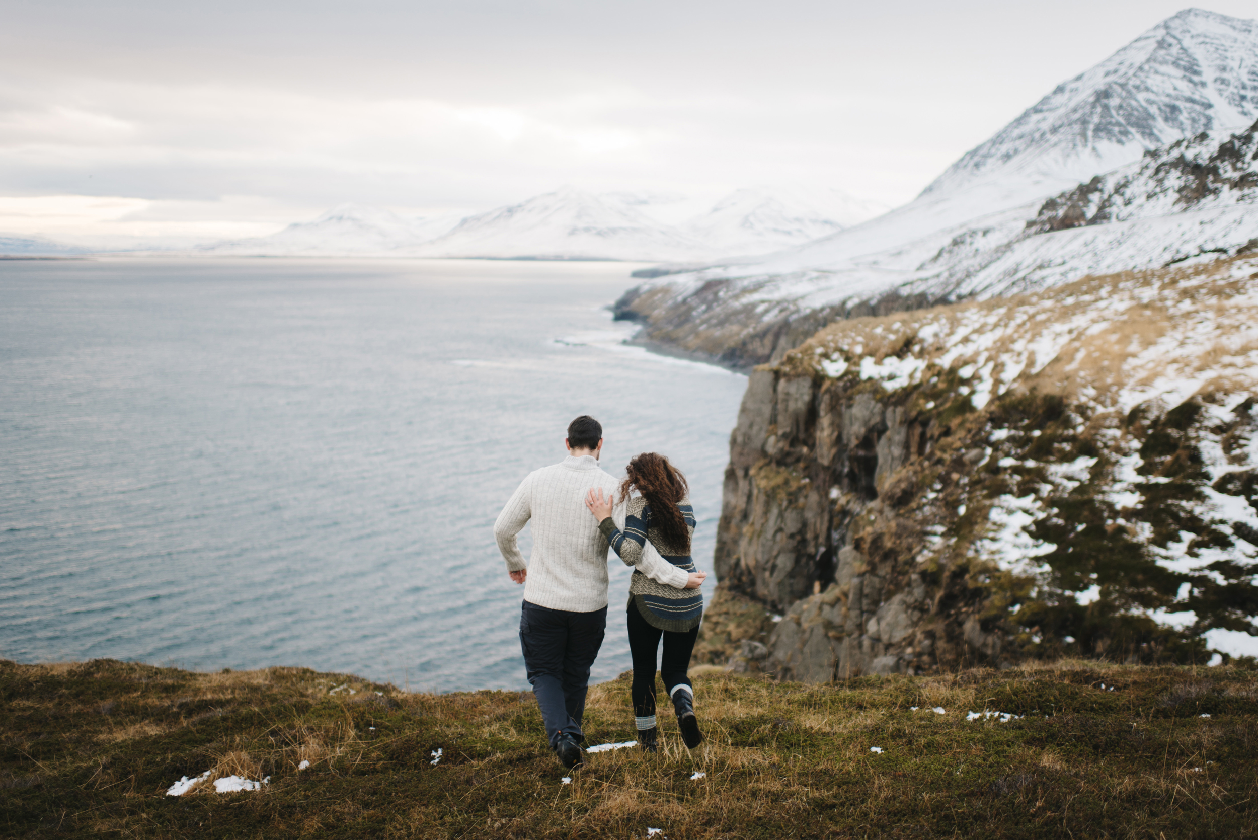
POLYGON ((816 358, 832 356, 854 365, 862 357, 882 362, 906 347, 916 358, 937 363, 945 353, 969 347, 952 363, 991 362, 991 373, 998 381, 1004 375, 1014 392, 1039 390, 1106 404, 1121 389, 1149 386, 1165 375, 1199 379, 1203 392, 1234 392, 1258 385, 1248 361, 1258 352, 1254 277, 1258 259, 1235 257, 1086 277, 1043 293, 837 321, 782 365, 813 370, 816 358), (926 327, 936 332, 918 338, 926 327), (1054 333, 1066 340, 1044 341, 1054 333), (985 340, 967 343, 979 334, 985 340), (1052 356, 1038 357, 1032 350, 1037 342, 1050 347, 1052 356), (1159 342, 1164 351, 1142 356, 1159 342))

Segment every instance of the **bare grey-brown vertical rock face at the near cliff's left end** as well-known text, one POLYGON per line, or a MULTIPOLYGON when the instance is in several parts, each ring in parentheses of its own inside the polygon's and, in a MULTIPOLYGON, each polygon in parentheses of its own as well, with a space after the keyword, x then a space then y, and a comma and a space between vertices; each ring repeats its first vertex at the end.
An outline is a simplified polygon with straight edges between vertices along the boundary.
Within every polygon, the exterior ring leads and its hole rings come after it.
MULTIPOLYGON (((765 646, 806 682, 912 671, 932 602, 908 571, 921 527, 897 516, 922 420, 873 389, 760 368, 731 436, 716 572, 782 612, 765 646)), ((928 420, 926 421, 928 424, 928 420)))

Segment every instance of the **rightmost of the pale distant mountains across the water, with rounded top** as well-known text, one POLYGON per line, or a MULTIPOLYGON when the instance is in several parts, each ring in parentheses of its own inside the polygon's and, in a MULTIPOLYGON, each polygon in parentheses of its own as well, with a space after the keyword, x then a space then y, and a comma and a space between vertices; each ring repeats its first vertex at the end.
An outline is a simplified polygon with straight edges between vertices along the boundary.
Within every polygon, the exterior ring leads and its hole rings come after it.
POLYGON ((682 230, 721 254, 761 254, 801 245, 886 213, 840 190, 761 186, 735 190, 682 230))

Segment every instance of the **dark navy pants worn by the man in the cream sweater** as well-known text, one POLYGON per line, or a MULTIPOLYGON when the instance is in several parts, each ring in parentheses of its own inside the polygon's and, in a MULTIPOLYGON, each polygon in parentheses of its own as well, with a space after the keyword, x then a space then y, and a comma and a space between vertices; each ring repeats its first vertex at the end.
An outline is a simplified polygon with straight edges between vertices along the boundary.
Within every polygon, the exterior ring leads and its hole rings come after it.
POLYGON ((521 607, 520 646, 552 748, 561 734, 581 741, 590 665, 599 655, 606 627, 608 607, 569 612, 528 601, 521 607))

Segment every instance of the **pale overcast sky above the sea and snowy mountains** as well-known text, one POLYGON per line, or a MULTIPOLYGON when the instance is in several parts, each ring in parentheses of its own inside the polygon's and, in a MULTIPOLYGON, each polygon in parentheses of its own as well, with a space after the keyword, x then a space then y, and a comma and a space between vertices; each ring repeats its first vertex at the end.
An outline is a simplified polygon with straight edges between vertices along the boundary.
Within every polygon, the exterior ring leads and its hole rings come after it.
POLYGON ((561 185, 893 206, 1183 8, 0 0, 0 235, 187 244, 561 185))

